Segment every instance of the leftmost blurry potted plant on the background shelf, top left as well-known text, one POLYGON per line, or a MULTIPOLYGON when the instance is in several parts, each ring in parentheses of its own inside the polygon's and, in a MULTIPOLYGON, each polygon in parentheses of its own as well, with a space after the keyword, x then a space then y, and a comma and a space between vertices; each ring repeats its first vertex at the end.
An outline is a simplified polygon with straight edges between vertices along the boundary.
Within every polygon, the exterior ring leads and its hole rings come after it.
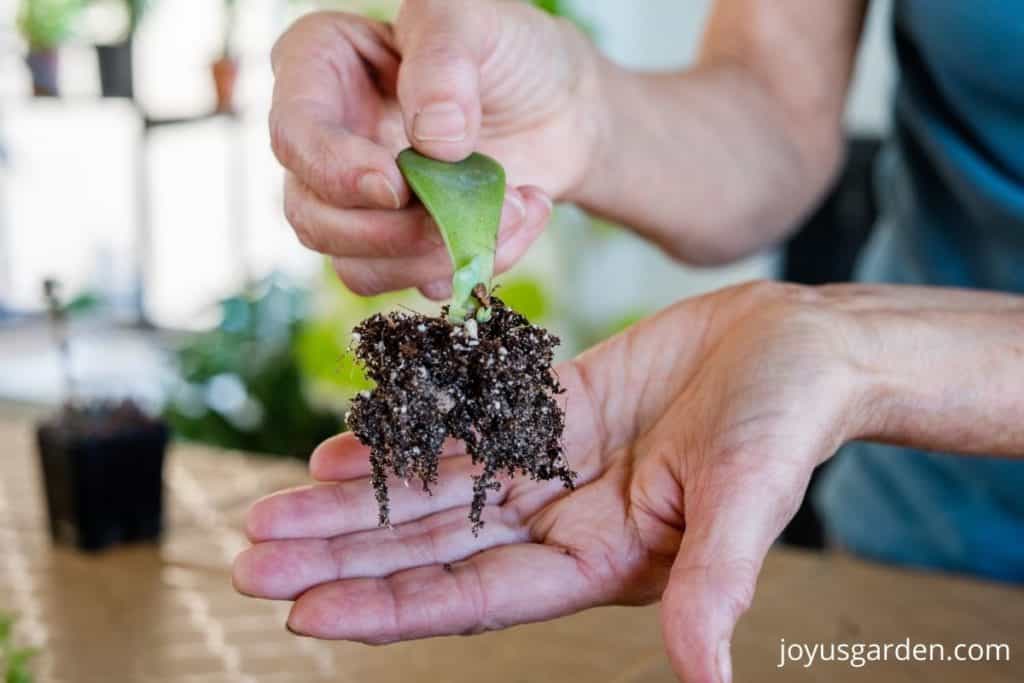
POLYGON ((81 7, 81 0, 22 0, 17 27, 29 43, 26 63, 32 74, 32 91, 37 97, 57 94, 57 46, 71 33, 81 7))

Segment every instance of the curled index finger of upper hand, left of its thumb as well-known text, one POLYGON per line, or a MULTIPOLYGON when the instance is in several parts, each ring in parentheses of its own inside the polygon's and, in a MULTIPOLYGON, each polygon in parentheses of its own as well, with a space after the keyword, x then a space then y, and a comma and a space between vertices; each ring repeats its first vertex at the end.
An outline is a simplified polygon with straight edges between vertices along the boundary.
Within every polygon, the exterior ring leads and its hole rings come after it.
POLYGON ((397 150, 375 141, 386 110, 380 83, 398 70, 385 32, 355 16, 321 12, 297 22, 273 49, 274 154, 338 207, 397 209, 410 200, 397 150))

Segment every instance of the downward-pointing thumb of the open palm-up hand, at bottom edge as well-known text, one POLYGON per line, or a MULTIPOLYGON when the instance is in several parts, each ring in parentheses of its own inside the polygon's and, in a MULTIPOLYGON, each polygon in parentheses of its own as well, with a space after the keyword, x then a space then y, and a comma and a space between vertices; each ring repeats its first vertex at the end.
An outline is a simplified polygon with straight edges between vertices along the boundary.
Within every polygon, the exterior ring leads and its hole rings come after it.
POLYGON ((803 469, 712 466, 687 492, 686 530, 662 601, 666 647, 686 683, 731 683, 733 629, 807 489, 803 469))

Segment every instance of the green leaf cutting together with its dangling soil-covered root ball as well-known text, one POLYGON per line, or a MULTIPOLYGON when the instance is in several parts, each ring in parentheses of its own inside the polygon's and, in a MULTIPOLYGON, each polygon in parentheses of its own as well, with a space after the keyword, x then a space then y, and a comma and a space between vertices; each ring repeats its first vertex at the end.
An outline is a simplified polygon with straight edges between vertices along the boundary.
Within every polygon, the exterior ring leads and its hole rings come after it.
POLYGON ((407 150, 398 166, 443 236, 453 299, 441 317, 392 312, 355 329, 352 351, 376 386, 352 399, 346 422, 370 447, 382 526, 391 523, 388 477, 419 479, 429 493, 445 439, 462 441, 480 467, 468 515, 477 533, 503 475, 573 485, 551 368, 559 342, 490 294, 505 201, 498 162, 447 164, 407 150))

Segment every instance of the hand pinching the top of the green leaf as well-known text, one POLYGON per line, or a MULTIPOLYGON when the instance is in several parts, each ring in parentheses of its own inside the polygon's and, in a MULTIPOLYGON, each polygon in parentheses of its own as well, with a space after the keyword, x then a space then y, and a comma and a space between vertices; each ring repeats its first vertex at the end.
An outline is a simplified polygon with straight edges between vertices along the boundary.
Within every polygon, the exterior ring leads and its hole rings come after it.
POLYGON ((286 214, 362 295, 450 294, 440 234, 394 161, 402 148, 445 161, 480 151, 506 167, 502 270, 544 229, 551 198, 582 181, 600 121, 586 39, 519 2, 409 0, 393 28, 314 13, 272 61, 286 214))

